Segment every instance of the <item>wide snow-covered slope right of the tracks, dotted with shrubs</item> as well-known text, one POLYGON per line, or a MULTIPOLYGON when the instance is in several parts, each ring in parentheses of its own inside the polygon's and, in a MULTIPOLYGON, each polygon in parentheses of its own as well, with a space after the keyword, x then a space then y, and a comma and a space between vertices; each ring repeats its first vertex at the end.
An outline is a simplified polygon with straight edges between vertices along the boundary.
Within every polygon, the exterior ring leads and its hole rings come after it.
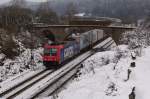
POLYGON ((136 99, 149 99, 150 47, 143 50, 136 60, 124 45, 117 51, 96 53, 83 63, 80 75, 66 85, 58 99, 129 99, 133 87, 136 99), (136 67, 130 67, 133 61, 136 67))

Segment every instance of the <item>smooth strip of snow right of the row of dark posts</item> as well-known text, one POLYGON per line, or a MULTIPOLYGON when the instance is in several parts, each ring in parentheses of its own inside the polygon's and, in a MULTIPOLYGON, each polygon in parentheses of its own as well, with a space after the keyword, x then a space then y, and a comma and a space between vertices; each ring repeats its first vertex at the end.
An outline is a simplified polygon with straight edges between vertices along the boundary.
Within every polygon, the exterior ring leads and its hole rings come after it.
POLYGON ((144 49, 143 56, 136 60, 134 74, 136 99, 150 99, 150 47, 144 49))

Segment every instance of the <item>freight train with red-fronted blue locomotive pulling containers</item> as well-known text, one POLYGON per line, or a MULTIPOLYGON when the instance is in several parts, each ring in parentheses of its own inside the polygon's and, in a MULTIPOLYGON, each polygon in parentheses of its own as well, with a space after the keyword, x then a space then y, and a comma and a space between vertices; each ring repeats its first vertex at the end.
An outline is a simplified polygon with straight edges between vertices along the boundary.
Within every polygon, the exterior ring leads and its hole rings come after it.
POLYGON ((71 58, 89 50, 106 36, 103 30, 94 29, 85 33, 71 34, 63 42, 47 43, 44 46, 43 64, 47 68, 57 68, 71 58))

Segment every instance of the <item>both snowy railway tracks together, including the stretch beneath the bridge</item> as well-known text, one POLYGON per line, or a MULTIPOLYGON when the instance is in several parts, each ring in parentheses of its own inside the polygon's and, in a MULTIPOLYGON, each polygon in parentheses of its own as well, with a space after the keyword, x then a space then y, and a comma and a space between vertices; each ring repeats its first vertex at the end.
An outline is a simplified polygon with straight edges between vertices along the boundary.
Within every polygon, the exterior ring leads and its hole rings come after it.
MULTIPOLYGON (((113 41, 109 37, 98 44, 97 47, 108 48, 112 43, 113 41)), ((94 48, 96 48, 96 46, 94 48)), ((20 82, 18 85, 1 91, 0 97, 4 99, 33 99, 52 95, 71 79, 77 72, 80 64, 93 54, 93 51, 88 51, 55 72, 53 70, 42 70, 20 82)))

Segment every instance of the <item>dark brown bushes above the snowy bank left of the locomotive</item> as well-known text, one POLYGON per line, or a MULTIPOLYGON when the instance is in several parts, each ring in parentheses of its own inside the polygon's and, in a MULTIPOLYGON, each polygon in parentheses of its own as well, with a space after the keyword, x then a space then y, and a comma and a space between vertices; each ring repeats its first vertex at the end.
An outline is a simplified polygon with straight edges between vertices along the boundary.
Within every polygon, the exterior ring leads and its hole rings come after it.
POLYGON ((14 58, 24 51, 24 48, 36 49, 41 46, 44 37, 30 32, 21 32, 18 35, 0 29, 0 53, 7 58, 14 58))

